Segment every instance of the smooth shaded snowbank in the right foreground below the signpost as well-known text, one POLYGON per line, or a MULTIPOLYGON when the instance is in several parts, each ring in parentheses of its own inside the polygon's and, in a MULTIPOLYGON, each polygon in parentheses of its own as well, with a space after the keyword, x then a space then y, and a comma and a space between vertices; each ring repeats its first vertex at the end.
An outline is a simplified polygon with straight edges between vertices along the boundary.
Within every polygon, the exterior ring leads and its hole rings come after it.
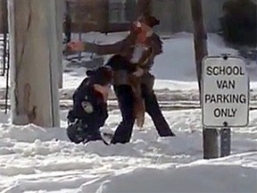
POLYGON ((255 167, 236 164, 240 158, 256 163, 257 153, 229 156, 216 161, 196 161, 187 165, 148 167, 104 180, 97 191, 85 187, 83 192, 97 193, 172 193, 172 192, 256 192, 255 167), (93 190, 93 191, 92 191, 93 190))

